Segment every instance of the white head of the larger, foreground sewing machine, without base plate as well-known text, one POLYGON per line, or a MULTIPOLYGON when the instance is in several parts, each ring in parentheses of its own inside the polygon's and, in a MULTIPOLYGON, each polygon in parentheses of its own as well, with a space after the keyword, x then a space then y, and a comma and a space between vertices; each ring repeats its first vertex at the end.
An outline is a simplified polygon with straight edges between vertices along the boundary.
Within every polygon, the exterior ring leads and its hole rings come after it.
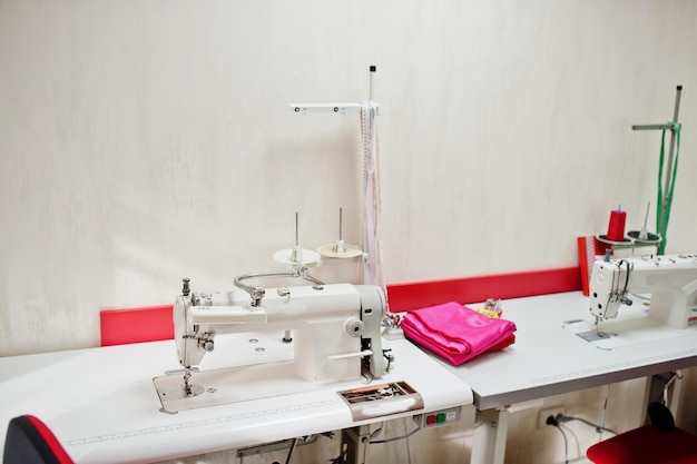
MULTIPOLYGON (((190 368, 213 352, 218 334, 279 330, 294 345, 294 372, 311 382, 382 377, 387 368, 381 343, 384 296, 371 285, 323 284, 306 268, 291 273, 248 274, 235 279, 240 289, 204 294, 184 279, 174 306, 175 340, 185 367, 184 389, 190 368), (255 277, 303 277, 314 285, 269 288, 247 286, 255 277)), ((224 356, 224 354, 222 354, 224 356)))

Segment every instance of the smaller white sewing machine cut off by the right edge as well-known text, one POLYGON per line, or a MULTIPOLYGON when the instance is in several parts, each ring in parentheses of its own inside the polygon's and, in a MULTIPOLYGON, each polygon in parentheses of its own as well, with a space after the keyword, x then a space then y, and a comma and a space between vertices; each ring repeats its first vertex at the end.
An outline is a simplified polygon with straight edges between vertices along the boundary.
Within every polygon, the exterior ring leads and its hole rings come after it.
POLYGON ((590 278, 596 325, 617 317, 628 294, 650 293, 649 317, 674 328, 697 326, 697 254, 598 260, 590 278))

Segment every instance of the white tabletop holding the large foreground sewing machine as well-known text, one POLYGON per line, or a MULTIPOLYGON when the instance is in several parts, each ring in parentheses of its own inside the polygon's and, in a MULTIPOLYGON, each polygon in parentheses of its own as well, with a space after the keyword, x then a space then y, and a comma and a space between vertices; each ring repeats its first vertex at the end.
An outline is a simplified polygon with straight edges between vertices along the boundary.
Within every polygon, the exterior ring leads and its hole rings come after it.
MULTIPOLYGON (((202 371, 235 365, 242 336, 219 336, 202 371)), ((363 379, 161 413, 153 378, 180 368, 173 340, 0 358, 0 452, 10 418, 22 414, 43 419, 78 463, 141 463, 472 404, 468 385, 410 342, 383 344, 395 362, 380 382, 409 383, 424 408, 361 422, 352 419, 336 392, 362 386, 363 379)))

